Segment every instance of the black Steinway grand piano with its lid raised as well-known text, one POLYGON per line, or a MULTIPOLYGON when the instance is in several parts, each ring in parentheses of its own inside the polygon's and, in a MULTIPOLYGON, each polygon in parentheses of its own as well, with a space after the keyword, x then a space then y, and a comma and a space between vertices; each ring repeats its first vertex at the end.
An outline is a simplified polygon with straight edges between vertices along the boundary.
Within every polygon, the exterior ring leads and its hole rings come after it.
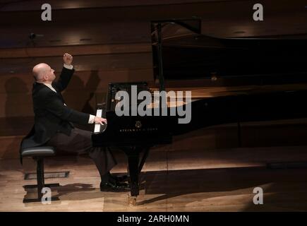
POLYGON ((152 21, 151 35, 154 78, 109 84, 107 100, 97 107, 97 115, 106 117, 108 124, 95 125, 92 134, 94 146, 126 153, 131 205, 152 146, 206 126, 236 123, 241 133, 244 121, 307 117, 306 39, 210 37, 201 34, 199 18, 152 21), (191 90, 191 101, 167 102, 168 112, 179 105, 191 107, 191 121, 178 124, 179 115, 117 116, 115 106, 121 100, 116 93, 131 92, 131 85, 137 85, 138 92, 191 90))

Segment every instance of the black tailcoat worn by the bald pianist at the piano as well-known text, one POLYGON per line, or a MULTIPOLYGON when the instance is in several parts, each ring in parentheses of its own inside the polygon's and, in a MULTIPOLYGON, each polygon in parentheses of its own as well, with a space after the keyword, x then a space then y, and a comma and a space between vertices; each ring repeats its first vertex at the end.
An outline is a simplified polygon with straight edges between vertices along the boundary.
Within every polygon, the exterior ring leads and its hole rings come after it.
POLYGON ((88 124, 90 115, 70 109, 64 105, 61 91, 65 90, 74 69, 63 68, 58 81, 52 83, 56 93, 42 83, 34 83, 32 88, 33 110, 35 124, 20 144, 23 148, 44 145, 56 133, 70 135, 72 123, 88 124))

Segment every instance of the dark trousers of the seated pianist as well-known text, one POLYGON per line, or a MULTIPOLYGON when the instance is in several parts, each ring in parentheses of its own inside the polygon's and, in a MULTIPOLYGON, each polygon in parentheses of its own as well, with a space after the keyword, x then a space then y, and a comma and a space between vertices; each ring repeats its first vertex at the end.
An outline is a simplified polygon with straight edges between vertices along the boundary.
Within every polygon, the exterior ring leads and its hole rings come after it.
POLYGON ((62 150, 68 153, 88 153, 90 158, 95 162, 100 172, 100 177, 109 172, 117 164, 114 156, 107 148, 92 147, 92 133, 90 131, 74 128, 70 136, 64 133, 56 133, 47 142, 47 145, 52 145, 56 150, 62 150))

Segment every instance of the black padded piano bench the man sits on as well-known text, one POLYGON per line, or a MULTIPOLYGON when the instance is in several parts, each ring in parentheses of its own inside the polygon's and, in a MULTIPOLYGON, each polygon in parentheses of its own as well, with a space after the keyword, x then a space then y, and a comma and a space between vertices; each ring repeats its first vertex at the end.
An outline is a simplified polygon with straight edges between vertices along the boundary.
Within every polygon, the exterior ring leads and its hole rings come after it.
MULTIPOLYGON (((36 177, 37 184, 25 185, 24 189, 37 188, 37 198, 23 198, 23 203, 41 202, 42 189, 44 187, 59 186, 59 184, 44 184, 44 157, 56 155, 54 147, 40 146, 35 148, 24 148, 21 150, 22 157, 32 157, 36 162, 36 177)), ((59 198, 51 198, 52 201, 59 200, 59 198)))

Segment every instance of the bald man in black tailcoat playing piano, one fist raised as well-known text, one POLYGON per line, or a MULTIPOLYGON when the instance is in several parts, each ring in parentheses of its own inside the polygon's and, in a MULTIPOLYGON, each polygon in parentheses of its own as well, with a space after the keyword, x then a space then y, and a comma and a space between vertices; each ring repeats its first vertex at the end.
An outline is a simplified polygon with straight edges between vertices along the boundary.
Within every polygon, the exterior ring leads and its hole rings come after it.
POLYGON ((116 160, 109 150, 92 147, 92 133, 77 129, 76 124, 106 124, 107 119, 70 109, 64 102, 61 92, 65 90, 73 76, 73 57, 64 54, 64 68, 58 81, 54 69, 48 64, 37 64, 32 73, 35 83, 32 88, 35 125, 31 133, 23 139, 21 148, 52 145, 56 150, 88 153, 100 172, 102 191, 122 191, 127 185, 124 178, 114 177, 109 171, 116 160))

